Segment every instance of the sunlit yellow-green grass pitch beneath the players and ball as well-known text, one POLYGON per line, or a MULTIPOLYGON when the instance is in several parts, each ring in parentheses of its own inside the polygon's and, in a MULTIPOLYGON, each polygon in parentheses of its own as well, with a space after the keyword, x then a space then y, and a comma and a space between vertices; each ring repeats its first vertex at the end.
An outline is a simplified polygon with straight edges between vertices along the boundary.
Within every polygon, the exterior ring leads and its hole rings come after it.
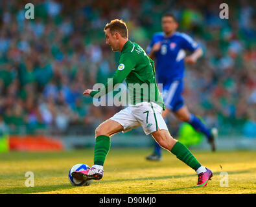
POLYGON ((90 186, 71 186, 69 169, 77 163, 93 165, 93 149, 61 153, 0 154, 0 193, 256 193, 255 151, 192 151, 200 163, 213 170, 205 188, 194 188, 197 175, 171 153, 163 161, 149 162, 152 149, 111 149, 102 180, 90 186), (27 171, 34 173, 34 187, 26 187, 27 171), (220 187, 220 172, 228 173, 229 186, 220 187))

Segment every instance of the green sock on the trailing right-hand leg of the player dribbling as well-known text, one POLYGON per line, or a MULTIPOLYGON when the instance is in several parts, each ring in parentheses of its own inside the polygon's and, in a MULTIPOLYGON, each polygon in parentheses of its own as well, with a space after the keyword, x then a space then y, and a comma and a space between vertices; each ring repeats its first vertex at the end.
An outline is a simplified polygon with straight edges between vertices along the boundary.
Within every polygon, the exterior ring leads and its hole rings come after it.
POLYGON ((185 145, 181 144, 181 142, 176 142, 176 144, 174 144, 171 153, 176 155, 178 159, 180 159, 195 171, 201 167, 201 164, 198 162, 198 160, 196 160, 194 155, 192 155, 191 151, 189 151, 185 145))

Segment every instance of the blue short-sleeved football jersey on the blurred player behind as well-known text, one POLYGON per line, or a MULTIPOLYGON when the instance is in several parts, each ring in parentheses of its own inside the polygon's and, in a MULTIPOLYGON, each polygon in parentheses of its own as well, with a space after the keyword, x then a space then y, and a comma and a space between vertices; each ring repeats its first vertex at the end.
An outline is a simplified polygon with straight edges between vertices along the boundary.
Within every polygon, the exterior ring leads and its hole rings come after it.
POLYGON ((155 54, 158 82, 165 84, 180 80, 184 76, 185 50, 193 52, 200 46, 190 36, 181 32, 175 32, 169 38, 166 38, 163 32, 157 32, 146 53, 149 54, 152 46, 158 42, 161 42, 161 49, 155 54))

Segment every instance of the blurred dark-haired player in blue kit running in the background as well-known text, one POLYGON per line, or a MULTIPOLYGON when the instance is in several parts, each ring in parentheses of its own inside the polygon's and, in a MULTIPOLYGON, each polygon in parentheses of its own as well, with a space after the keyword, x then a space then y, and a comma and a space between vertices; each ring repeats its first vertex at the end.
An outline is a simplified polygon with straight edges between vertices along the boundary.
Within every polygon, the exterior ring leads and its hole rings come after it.
MULTIPOLYGON (((166 109, 162 116, 165 118, 172 112, 178 120, 191 124, 196 131, 206 136, 212 151, 215 151, 217 129, 209 129, 198 117, 190 113, 182 97, 185 63, 196 63, 203 50, 190 36, 176 32, 178 23, 173 14, 165 14, 161 24, 163 32, 154 34, 146 53, 156 62, 157 83, 163 84, 163 101, 166 109), (192 54, 186 57, 185 50, 192 54)), ((154 153, 146 159, 161 160, 161 147, 157 142, 154 153)))

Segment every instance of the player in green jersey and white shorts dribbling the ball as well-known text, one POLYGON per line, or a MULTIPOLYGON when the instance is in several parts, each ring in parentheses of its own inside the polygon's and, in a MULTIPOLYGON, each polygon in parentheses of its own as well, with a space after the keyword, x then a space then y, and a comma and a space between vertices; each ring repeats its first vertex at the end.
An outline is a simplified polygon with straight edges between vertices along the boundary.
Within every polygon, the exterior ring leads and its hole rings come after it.
MULTIPOLYGON (((111 84, 122 83, 128 85, 130 105, 106 120, 95 130, 96 144, 94 149, 94 165, 84 171, 74 171, 73 177, 78 180, 99 180, 103 176, 103 165, 110 150, 110 137, 119 132, 126 132, 142 126, 146 135, 151 134, 156 142, 167 149, 182 162, 194 169, 198 174, 197 186, 206 186, 213 177, 210 169, 202 166, 186 146, 170 135, 162 117, 165 110, 163 99, 156 85, 154 61, 136 43, 128 39, 126 23, 114 19, 104 28, 106 43, 116 52, 120 51, 119 66, 111 79, 111 84), (146 90, 136 90, 136 86, 144 86, 146 90)), ((99 91, 87 89, 84 94, 100 98, 113 91, 108 87, 110 81, 99 91)))

